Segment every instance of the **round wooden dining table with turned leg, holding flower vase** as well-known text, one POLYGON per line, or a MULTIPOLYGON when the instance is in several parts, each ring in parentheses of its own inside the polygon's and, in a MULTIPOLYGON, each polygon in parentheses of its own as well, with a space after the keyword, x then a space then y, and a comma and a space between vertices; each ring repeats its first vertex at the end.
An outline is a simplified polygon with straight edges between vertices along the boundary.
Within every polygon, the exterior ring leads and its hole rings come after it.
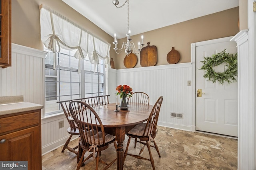
POLYGON ((105 133, 115 135, 117 141, 117 170, 123 169, 123 142, 125 134, 137 124, 148 120, 153 106, 149 104, 130 103, 128 109, 116 110, 116 104, 94 107, 104 126, 105 133))

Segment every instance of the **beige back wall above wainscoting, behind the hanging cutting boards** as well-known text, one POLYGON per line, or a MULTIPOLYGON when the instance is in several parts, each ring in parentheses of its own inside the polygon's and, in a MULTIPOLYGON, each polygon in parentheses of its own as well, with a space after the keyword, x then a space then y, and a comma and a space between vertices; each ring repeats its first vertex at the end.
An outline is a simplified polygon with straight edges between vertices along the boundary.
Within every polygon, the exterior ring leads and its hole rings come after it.
MULTIPOLYGON (((150 42, 155 45, 158 50, 158 61, 156 65, 169 64, 166 56, 172 47, 180 52, 180 61, 178 63, 190 62, 190 44, 210 39, 228 37, 236 35, 238 29, 239 7, 225 10, 215 14, 203 16, 189 21, 184 21, 153 31, 143 33, 144 43, 150 42)), ((138 44, 139 35, 132 36, 132 41, 138 44)), ((126 38, 119 39, 118 44, 126 41, 126 38)), ((119 47, 120 48, 120 47, 119 47)), ((116 68, 126 68, 124 66, 125 53, 116 55, 116 68)), ((140 54, 137 55, 138 63, 135 67, 140 66, 140 54)))

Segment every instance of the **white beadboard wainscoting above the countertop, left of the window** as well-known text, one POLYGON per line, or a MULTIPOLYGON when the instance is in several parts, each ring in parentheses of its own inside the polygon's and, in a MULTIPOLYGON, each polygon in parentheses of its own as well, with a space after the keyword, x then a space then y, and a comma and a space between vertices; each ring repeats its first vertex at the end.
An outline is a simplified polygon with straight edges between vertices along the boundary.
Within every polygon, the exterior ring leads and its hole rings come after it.
MULTIPOLYGON (((37 49, 12 44, 12 66, 0 68, 0 96, 23 96, 44 105, 44 57, 37 49)), ((42 115, 44 109, 41 110, 42 115)))

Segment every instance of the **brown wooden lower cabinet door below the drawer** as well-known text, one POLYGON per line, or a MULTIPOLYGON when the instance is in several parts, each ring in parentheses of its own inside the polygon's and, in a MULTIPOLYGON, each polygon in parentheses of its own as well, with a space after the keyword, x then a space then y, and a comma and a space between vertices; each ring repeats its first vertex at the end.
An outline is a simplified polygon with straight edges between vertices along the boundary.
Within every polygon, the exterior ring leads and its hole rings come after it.
POLYGON ((0 136, 0 160, 28 161, 28 170, 42 168, 39 127, 16 131, 0 136))

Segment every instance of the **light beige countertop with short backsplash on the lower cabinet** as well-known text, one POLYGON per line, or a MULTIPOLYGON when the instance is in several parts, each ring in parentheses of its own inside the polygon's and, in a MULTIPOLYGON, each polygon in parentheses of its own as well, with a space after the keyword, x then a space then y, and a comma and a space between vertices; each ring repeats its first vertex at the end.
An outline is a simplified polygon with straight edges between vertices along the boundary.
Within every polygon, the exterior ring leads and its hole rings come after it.
POLYGON ((44 106, 40 104, 24 102, 23 96, 0 97, 0 116, 22 111, 42 109, 43 107, 44 106))

